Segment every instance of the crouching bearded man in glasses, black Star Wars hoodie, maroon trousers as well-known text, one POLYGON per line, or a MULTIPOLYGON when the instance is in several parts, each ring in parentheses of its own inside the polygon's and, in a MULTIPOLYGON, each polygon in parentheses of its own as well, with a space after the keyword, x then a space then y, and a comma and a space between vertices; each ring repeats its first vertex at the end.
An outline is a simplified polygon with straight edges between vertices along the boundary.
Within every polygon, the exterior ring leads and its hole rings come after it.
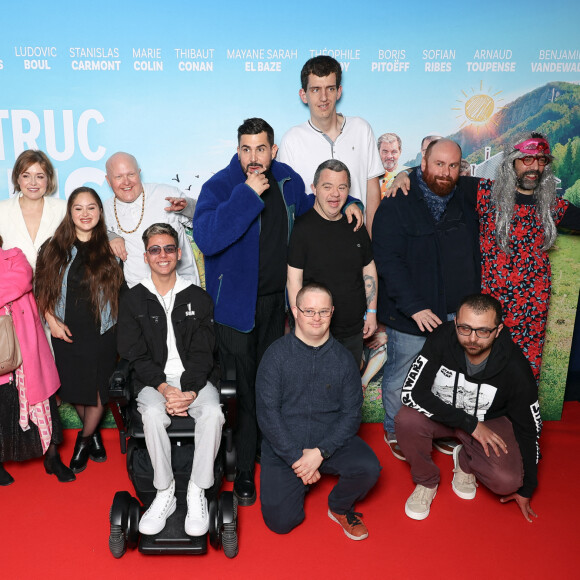
POLYGON ((473 499, 479 480, 502 502, 515 500, 528 521, 536 516, 530 498, 538 483, 538 388, 501 321, 495 298, 468 296, 411 365, 395 428, 417 484, 405 505, 412 519, 429 515, 440 479, 432 441, 449 436, 462 443, 453 452, 457 496, 473 499))

